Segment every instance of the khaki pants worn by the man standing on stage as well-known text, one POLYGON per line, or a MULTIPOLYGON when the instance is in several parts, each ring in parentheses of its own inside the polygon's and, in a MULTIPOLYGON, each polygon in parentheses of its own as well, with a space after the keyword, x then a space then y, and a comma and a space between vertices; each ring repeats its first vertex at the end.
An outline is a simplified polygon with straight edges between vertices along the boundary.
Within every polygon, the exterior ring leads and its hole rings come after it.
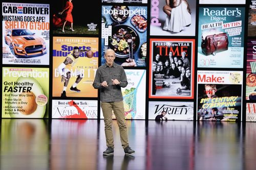
POLYGON ((127 130, 124 118, 124 108, 123 101, 120 102, 101 102, 101 109, 104 116, 105 123, 105 136, 106 136, 106 146, 114 148, 114 138, 112 131, 112 110, 117 119, 117 124, 119 127, 120 138, 123 149, 129 146, 127 130))

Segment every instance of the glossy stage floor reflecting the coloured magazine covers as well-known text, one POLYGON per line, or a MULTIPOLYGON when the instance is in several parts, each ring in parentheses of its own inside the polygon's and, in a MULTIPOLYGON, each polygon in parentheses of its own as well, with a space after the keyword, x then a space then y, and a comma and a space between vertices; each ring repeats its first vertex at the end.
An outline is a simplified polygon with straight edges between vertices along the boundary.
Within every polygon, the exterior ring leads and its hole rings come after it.
POLYGON ((256 123, 127 120, 125 156, 103 156, 103 120, 2 119, 1 169, 256 169, 256 123))

